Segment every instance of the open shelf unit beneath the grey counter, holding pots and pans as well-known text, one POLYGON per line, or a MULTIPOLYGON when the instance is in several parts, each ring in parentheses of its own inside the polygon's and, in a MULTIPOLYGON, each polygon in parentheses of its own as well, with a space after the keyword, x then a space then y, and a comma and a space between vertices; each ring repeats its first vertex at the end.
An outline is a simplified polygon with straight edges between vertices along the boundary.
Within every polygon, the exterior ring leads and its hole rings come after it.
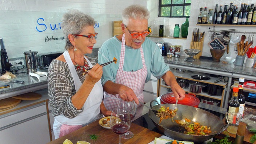
MULTIPOLYGON (((172 73, 175 75, 176 78, 181 78, 181 79, 185 79, 185 80, 192 80, 192 81, 199 81, 200 83, 219 85, 219 86, 223 87, 223 91, 222 91, 221 96, 211 96, 211 95, 208 95, 205 92, 194 93, 194 94, 197 95, 197 96, 200 96, 200 97, 208 97, 208 98, 211 98, 211 99, 219 100, 220 101, 220 107, 224 107, 224 98, 225 98, 225 95, 226 95, 227 83, 224 83, 223 81, 220 81, 218 83, 214 83, 216 80, 219 80, 219 78, 218 77, 212 77, 209 74, 198 74, 198 73, 193 73, 191 71, 186 71, 185 73, 177 73, 175 71, 175 69, 173 69, 173 68, 170 68, 170 70, 172 71, 172 73), (194 75, 204 75, 204 76, 210 77, 210 79, 209 80, 196 80, 196 79, 191 78, 191 76, 194 76, 194 75)), ((168 85, 165 85, 164 80, 160 79, 159 80, 159 95, 158 96, 161 96, 164 93, 169 92, 170 90, 171 90, 171 87, 169 87, 168 85)), ((192 92, 189 91, 189 88, 184 88, 184 90, 187 93, 192 93, 192 92)))

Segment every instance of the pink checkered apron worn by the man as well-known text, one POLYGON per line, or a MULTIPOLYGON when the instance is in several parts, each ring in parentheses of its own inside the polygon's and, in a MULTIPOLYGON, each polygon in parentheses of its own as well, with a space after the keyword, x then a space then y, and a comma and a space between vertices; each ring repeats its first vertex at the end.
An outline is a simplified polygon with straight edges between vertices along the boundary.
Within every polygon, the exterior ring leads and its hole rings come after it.
MULTIPOLYGON (((116 73, 116 82, 117 84, 123 84, 127 87, 131 88, 135 95, 138 97, 138 99, 141 102, 144 102, 143 98, 143 89, 145 85, 145 80, 147 78, 147 67, 145 64, 143 49, 140 47, 140 55, 142 59, 143 68, 139 69, 134 72, 126 72, 123 71, 124 67, 124 55, 125 55, 125 39, 124 34, 122 37, 122 45, 121 45, 121 55, 120 55, 120 61, 119 61, 119 69, 116 73)), ((112 111, 113 109, 117 108, 118 102, 120 100, 120 97, 118 94, 112 95, 107 92, 105 92, 104 96, 104 104, 105 107, 112 111)), ((141 104, 140 104, 141 105, 141 104)), ((138 105, 138 107, 140 106, 138 105)))

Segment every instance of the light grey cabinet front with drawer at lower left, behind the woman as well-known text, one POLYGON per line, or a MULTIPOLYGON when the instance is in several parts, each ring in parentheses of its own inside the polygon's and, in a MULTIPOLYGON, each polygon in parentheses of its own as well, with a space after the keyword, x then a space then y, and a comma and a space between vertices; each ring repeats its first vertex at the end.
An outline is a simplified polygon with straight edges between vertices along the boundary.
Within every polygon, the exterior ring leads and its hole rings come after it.
POLYGON ((48 143, 51 140, 47 125, 45 103, 0 115, 1 143, 48 143))

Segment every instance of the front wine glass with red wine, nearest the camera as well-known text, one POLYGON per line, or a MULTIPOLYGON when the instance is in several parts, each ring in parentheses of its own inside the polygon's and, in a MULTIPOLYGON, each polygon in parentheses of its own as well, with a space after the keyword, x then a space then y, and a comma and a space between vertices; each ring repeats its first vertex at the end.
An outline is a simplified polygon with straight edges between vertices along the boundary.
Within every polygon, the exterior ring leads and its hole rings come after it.
POLYGON ((118 107, 112 111, 109 120, 111 130, 119 135, 119 144, 121 144, 121 135, 131 127, 130 113, 125 103, 123 100, 119 101, 118 107))

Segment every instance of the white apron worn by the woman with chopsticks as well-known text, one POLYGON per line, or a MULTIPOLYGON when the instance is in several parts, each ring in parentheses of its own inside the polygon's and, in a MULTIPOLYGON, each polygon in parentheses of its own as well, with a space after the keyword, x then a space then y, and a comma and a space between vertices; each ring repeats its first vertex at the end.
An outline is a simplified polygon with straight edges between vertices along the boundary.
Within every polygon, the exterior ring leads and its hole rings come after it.
MULTIPOLYGON (((72 60, 69 56, 68 51, 64 52, 64 58, 67 61, 69 70, 71 72, 75 89, 76 91, 79 90, 82 83, 76 73, 76 69, 72 63, 72 60)), ((88 62, 89 66, 92 67, 91 62, 84 56, 85 60, 88 62)), ((100 104, 103 99, 103 87, 101 85, 101 80, 99 80, 93 87, 91 93, 89 94, 87 100, 84 103, 84 111, 81 112, 79 115, 74 117, 73 119, 69 119, 65 117, 63 114, 54 117, 53 123, 53 132, 55 135, 55 139, 59 138, 60 136, 60 128, 62 124, 65 125, 85 125, 90 123, 100 116, 100 104)))

